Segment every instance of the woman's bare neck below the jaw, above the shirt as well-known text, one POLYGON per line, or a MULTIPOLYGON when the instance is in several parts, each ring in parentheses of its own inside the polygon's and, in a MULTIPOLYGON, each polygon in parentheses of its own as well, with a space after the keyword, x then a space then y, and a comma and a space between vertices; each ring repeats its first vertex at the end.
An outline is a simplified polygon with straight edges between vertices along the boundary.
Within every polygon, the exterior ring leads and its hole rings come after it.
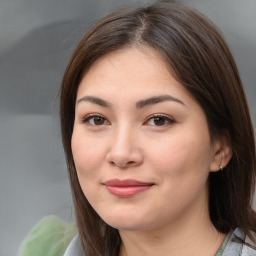
MULTIPOLYGON (((202 202, 201 202, 202 203, 202 202)), ((207 204, 202 204, 207 205, 207 204)), ((151 230, 120 230, 119 256, 214 256, 225 238, 211 223, 208 207, 151 230)))

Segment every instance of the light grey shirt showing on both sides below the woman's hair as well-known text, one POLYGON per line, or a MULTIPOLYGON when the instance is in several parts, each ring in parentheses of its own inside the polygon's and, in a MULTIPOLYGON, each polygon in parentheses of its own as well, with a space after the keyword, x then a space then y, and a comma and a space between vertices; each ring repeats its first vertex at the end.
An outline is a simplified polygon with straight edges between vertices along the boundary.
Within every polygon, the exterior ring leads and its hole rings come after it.
MULTIPOLYGON (((64 256, 85 256, 78 234, 68 246, 64 256)), ((215 256, 256 256, 255 243, 239 228, 227 235, 215 256), (237 241, 241 239, 244 243, 237 241)))

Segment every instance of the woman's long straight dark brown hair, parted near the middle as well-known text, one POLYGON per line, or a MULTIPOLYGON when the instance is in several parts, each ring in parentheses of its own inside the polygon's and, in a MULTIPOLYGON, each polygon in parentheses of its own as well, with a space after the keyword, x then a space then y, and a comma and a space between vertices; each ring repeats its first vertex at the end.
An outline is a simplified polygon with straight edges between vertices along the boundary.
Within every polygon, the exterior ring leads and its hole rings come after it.
POLYGON ((209 209, 220 232, 256 231, 251 200, 255 185, 253 126, 239 73, 220 33, 202 15, 175 3, 124 8, 94 25, 82 38, 65 71, 60 94, 63 145, 76 220, 87 256, 118 255, 120 236, 84 196, 71 151, 78 85, 103 55, 129 46, 157 50, 177 80, 203 108, 212 140, 224 136, 233 157, 222 172, 209 175, 209 209))

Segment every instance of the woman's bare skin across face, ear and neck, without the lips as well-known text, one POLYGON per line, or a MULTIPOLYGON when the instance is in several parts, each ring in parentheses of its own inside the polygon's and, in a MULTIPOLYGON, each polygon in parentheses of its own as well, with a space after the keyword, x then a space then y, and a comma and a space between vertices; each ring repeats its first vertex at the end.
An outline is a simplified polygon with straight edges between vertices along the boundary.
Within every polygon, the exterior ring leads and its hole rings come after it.
POLYGON ((207 180, 231 150, 211 142, 203 109, 155 50, 118 50, 89 69, 77 91, 72 152, 85 196, 120 232, 120 255, 216 253, 224 234, 209 218, 207 180), (145 103, 163 95, 172 98, 145 103), (118 197, 104 185, 116 178, 153 185, 118 197))

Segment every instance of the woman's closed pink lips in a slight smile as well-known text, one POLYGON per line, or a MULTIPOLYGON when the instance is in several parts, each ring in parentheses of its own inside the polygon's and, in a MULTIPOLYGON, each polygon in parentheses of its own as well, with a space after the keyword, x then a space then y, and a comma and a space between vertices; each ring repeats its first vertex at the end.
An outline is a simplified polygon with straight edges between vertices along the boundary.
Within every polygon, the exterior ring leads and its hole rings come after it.
POLYGON ((133 197, 140 194, 148 189, 150 189, 154 184, 147 183, 137 180, 119 180, 112 179, 103 183, 106 189, 114 196, 117 197, 133 197))

